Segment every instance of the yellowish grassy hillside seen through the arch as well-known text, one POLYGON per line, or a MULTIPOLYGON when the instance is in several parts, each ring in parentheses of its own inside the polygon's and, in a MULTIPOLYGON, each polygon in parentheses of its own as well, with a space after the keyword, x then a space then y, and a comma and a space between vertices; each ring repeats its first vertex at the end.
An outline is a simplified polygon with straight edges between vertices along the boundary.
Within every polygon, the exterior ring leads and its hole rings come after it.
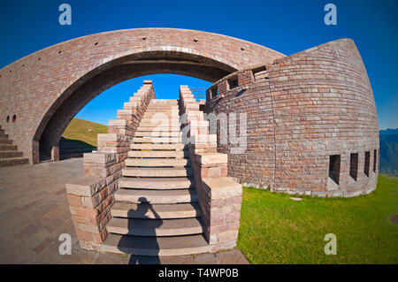
POLYGON ((73 118, 71 123, 66 127, 62 137, 84 141, 96 147, 96 134, 98 133, 108 133, 108 126, 85 119, 73 118))

